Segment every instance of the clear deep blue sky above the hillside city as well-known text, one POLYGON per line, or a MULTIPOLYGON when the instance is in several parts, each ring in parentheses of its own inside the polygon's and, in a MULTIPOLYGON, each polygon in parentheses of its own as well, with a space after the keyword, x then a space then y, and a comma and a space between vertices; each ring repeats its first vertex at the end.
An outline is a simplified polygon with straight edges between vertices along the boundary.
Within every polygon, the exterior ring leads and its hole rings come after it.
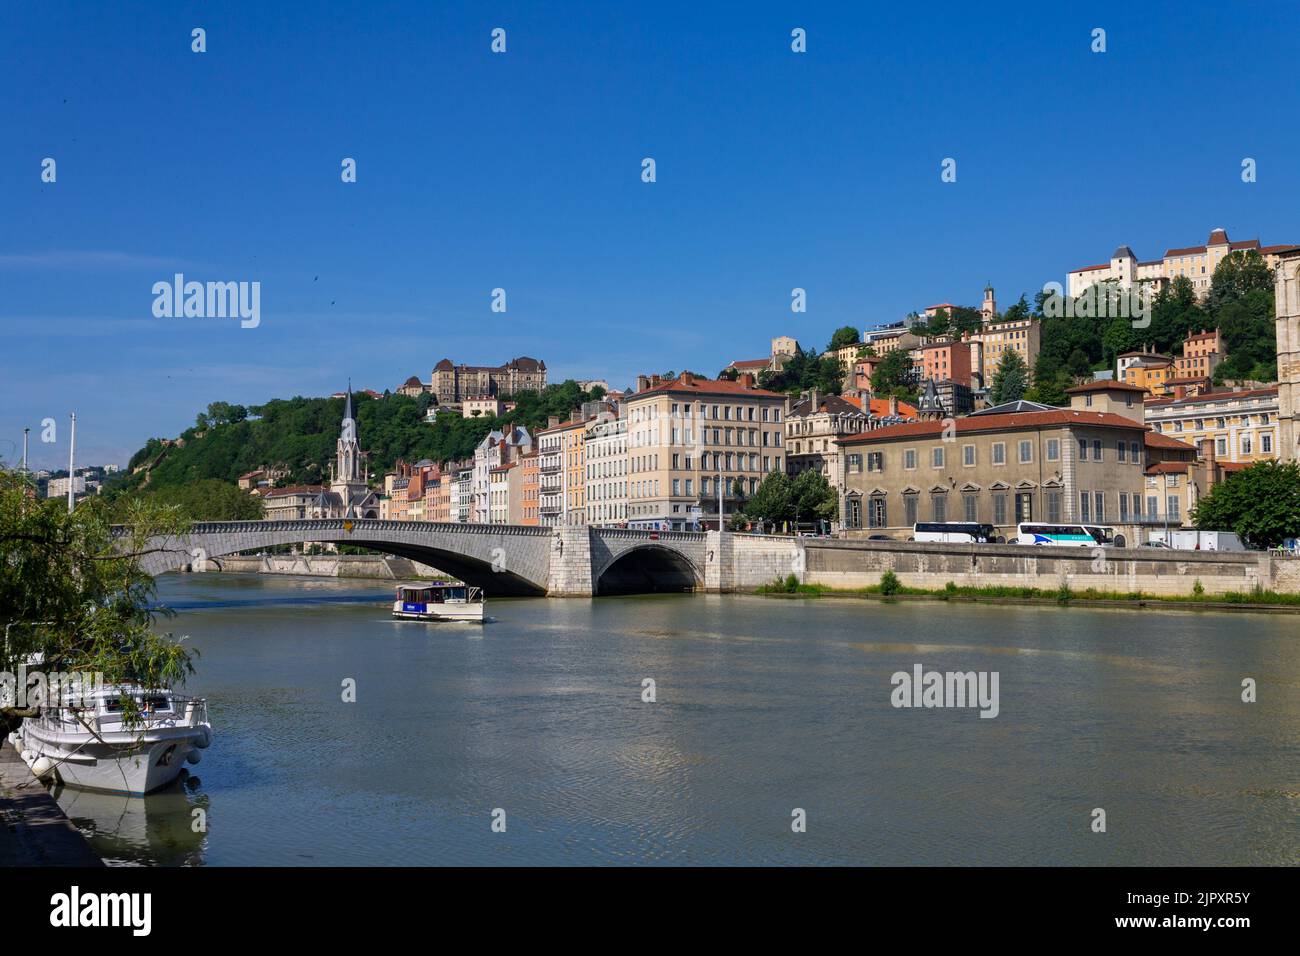
POLYGON ((73 410, 78 460, 125 462, 443 356, 714 373, 1119 243, 1300 242, 1296 8, 1048 7, 12 0, 0 457, 55 418, 31 460, 65 463, 73 410), (260 326, 155 317, 176 272, 259 281, 260 326))

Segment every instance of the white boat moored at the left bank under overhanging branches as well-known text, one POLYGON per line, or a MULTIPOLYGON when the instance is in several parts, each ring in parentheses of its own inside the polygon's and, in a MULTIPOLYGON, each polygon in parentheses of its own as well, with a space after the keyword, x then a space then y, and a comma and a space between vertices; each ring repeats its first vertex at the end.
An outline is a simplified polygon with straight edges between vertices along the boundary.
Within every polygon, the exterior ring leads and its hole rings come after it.
POLYGON ((42 779, 143 796, 173 783, 187 762, 199 762, 199 750, 212 743, 212 724, 202 697, 117 685, 98 688, 83 706, 42 708, 10 743, 42 779), (130 722, 122 714, 124 693, 139 705, 130 722))

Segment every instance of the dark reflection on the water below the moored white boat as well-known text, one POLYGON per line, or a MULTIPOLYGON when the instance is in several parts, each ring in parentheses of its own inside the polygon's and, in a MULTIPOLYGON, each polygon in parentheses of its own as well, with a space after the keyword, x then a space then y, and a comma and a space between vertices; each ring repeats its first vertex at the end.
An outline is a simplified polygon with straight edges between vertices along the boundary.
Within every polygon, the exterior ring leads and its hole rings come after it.
POLYGON ((95 793, 56 784, 55 800, 104 862, 126 866, 200 866, 209 799, 198 777, 186 771, 164 790, 146 797, 95 793), (203 810, 196 817, 195 810, 203 810))

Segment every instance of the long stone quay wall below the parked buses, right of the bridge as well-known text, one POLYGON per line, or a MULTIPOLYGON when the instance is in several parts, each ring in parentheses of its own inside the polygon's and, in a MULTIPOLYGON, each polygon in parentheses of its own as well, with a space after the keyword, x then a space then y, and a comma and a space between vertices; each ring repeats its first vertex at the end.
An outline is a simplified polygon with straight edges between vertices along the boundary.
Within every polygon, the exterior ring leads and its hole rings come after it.
MULTIPOLYGON (((744 537, 744 536, 737 536, 744 537)), ((1019 587, 1043 591, 1191 594, 1200 581, 1206 594, 1256 587, 1300 592, 1300 559, 1258 551, 1184 551, 1156 548, 1049 548, 957 545, 905 541, 801 540, 793 571, 803 584, 861 588, 893 571, 907 587, 1019 587)), ((737 555, 740 558, 740 555, 737 555)), ((740 564, 744 566, 744 561, 740 564)), ((775 575, 740 575, 737 587, 754 588, 775 575)))

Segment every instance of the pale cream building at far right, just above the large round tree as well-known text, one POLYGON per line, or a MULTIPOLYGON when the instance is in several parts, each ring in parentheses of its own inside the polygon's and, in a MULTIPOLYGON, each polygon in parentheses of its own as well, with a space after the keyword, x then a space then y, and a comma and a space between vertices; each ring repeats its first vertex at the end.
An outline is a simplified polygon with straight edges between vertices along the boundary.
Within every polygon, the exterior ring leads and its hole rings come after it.
POLYGON ((1158 434, 1204 447, 1212 442, 1218 462, 1249 464, 1277 459, 1278 386, 1206 392, 1191 398, 1147 402, 1147 424, 1158 434))

